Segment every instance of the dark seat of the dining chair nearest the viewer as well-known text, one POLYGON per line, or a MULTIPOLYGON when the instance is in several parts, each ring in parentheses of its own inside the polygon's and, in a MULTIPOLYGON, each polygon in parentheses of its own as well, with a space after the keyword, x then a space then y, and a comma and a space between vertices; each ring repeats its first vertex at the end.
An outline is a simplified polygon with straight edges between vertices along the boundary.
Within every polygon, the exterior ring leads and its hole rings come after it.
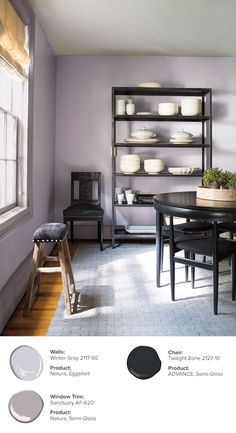
MULTIPOLYGON (((181 238, 177 238, 175 241, 175 248, 177 250, 185 250, 200 254, 203 256, 212 256, 213 253, 213 239, 207 236, 194 236, 186 235, 181 238)), ((226 257, 236 254, 236 242, 218 239, 218 259, 219 261, 226 257)))

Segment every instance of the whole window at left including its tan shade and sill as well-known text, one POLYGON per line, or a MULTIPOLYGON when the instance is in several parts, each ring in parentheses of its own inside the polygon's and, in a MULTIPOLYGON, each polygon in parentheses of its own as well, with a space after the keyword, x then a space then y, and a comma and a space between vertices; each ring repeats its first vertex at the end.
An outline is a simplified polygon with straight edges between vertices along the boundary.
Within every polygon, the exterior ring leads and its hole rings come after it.
POLYGON ((30 59, 27 27, 9 0, 3 0, 0 8, 0 28, 0 234, 2 234, 29 211, 28 73, 30 59))

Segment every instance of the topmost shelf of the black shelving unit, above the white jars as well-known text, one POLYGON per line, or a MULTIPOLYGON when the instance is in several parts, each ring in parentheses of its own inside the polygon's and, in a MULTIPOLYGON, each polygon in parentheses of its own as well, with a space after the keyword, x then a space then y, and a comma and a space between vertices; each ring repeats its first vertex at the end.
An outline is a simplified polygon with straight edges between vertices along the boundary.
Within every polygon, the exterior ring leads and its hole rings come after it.
POLYGON ((205 96, 211 89, 179 87, 113 87, 113 95, 205 96))

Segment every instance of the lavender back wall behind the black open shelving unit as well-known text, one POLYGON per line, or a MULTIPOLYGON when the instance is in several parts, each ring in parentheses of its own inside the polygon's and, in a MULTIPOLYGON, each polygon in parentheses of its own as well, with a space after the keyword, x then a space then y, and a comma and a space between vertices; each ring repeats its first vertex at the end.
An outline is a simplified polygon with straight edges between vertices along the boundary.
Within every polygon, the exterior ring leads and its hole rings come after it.
MULTIPOLYGON (((190 57, 59 57, 57 60, 56 108, 56 219, 70 199, 72 170, 100 170, 103 173, 105 224, 111 223, 111 87, 132 86, 144 81, 160 81, 166 86, 211 87, 213 89, 213 164, 236 170, 236 61, 231 58, 190 57)), ((173 98, 171 98, 172 100, 173 98)), ((148 106, 139 106, 142 111, 148 106)), ((195 124, 143 124, 168 135, 182 126, 198 134, 195 124)), ((141 126, 135 123, 133 128, 141 126)), ((129 133, 120 130, 121 138, 129 133)), ((142 159, 162 158, 167 166, 201 164, 197 150, 155 150, 139 152, 142 159)), ((199 180, 191 178, 142 179, 132 186, 143 192, 193 189, 199 180)), ((124 180, 121 184, 125 184, 124 180)), ((128 184, 127 184, 128 186, 128 184)), ((152 209, 122 211, 120 223, 152 223, 152 209)), ((108 233, 108 232, 107 232, 108 233)), ((83 230, 80 236, 89 236, 83 230)))

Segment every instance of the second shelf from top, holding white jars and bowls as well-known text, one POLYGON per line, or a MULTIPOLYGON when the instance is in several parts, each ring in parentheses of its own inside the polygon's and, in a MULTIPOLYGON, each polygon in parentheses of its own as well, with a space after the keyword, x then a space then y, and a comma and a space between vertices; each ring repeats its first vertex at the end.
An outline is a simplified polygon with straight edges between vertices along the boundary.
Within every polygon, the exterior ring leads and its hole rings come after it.
POLYGON ((206 120, 210 120, 210 116, 182 116, 181 114, 177 114, 176 116, 159 116, 158 114, 148 114, 148 115, 137 115, 133 114, 129 116, 128 114, 114 116, 114 120, 116 121, 142 121, 142 120, 151 120, 158 122, 205 122, 206 120))

